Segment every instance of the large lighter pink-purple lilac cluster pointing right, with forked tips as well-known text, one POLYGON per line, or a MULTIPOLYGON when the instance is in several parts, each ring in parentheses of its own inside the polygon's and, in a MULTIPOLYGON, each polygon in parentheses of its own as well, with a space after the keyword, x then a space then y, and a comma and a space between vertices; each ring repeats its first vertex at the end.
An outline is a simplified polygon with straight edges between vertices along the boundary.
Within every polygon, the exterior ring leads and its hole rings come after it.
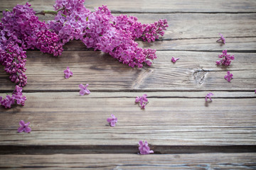
POLYGON ((138 47, 134 39, 150 42, 159 38, 168 27, 166 20, 146 25, 137 22, 133 16, 112 16, 107 6, 91 12, 83 5, 84 1, 56 1, 54 7, 58 14, 54 21, 49 21, 49 28, 59 35, 63 43, 82 40, 88 48, 102 50, 129 67, 152 64, 156 50, 138 47))

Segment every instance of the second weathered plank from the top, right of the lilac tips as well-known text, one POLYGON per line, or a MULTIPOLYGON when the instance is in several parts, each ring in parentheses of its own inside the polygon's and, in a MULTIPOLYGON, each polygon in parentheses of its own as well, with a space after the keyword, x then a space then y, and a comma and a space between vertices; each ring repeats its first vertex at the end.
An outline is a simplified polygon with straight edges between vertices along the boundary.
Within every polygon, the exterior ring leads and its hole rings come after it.
MULTIPOLYGON (((159 19, 166 18, 169 22, 169 28, 161 40, 176 40, 192 38, 191 44, 201 42, 194 40, 196 38, 212 38, 213 44, 218 40, 218 33, 222 33, 227 45, 234 43, 233 38, 252 37, 256 35, 255 13, 125 13, 127 16, 137 16, 142 23, 153 23, 159 19)), ((119 14, 114 14, 119 15, 119 14)), ((2 14, 0 13, 0 18, 2 14)), ((54 16, 38 16, 41 20, 53 20, 54 16)), ((243 42, 242 39, 239 40, 243 42)), ((174 42, 171 42, 173 44, 174 42)), ((220 45, 220 44, 218 44, 220 45)), ((255 46, 254 46, 255 49, 255 46)), ((84 47, 82 47, 84 50, 84 47)))

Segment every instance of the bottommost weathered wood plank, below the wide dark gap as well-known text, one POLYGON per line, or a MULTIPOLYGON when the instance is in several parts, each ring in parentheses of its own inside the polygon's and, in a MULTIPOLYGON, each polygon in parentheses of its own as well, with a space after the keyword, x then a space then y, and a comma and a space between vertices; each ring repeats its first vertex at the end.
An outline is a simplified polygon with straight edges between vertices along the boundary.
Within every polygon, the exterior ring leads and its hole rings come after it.
POLYGON ((256 169, 256 154, 0 155, 4 169, 256 169))

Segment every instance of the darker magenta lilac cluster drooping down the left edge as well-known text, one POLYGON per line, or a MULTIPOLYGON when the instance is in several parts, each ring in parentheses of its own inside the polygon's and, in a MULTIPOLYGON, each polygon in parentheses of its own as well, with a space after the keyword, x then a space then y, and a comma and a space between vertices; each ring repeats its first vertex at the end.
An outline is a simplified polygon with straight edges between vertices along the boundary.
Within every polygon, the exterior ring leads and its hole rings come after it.
POLYGON ((18 86, 27 83, 26 52, 23 50, 38 48, 55 56, 63 51, 58 35, 38 20, 30 6, 26 3, 15 6, 13 11, 4 11, 0 23, 0 64, 18 86))

